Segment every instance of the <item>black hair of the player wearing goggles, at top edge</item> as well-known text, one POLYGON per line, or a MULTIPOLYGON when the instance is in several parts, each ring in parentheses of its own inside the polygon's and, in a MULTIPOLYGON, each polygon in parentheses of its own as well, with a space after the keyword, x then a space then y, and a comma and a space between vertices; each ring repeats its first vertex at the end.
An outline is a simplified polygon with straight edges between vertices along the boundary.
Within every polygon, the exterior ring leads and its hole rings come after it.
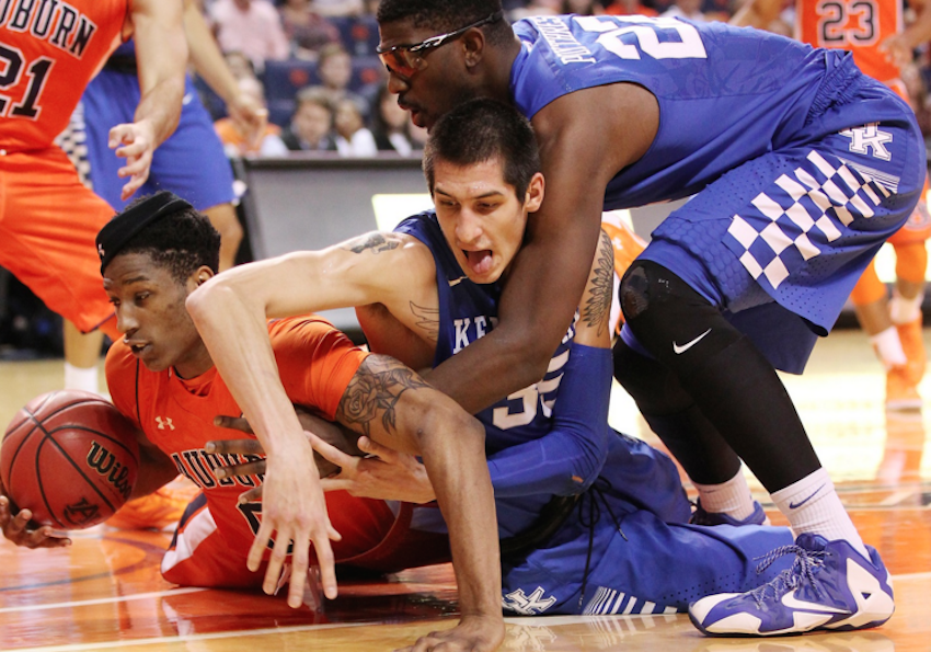
MULTIPOLYGON (((502 11, 501 0, 381 0, 376 16, 380 25, 410 20, 416 28, 441 34, 476 23, 498 11, 502 11)), ((493 45, 502 45, 514 37, 504 18, 484 25, 482 31, 493 45)))

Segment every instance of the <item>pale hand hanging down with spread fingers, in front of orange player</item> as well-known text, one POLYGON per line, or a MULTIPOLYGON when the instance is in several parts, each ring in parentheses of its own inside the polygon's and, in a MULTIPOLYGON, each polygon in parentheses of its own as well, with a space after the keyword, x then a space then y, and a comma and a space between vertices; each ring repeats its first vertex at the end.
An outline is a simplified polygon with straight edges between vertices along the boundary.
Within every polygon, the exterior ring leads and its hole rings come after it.
POLYGON ((288 585, 288 606, 292 608, 303 604, 311 544, 320 564, 323 593, 331 599, 336 597, 336 572, 330 539, 341 539, 340 533, 330 524, 320 479, 317 473, 308 473, 314 465, 313 450, 303 441, 300 443, 300 447, 291 447, 287 455, 269 456, 265 460, 262 521, 246 558, 249 570, 257 571, 274 535, 274 548, 262 584, 262 590, 273 595, 281 576, 288 545, 294 542, 288 585))

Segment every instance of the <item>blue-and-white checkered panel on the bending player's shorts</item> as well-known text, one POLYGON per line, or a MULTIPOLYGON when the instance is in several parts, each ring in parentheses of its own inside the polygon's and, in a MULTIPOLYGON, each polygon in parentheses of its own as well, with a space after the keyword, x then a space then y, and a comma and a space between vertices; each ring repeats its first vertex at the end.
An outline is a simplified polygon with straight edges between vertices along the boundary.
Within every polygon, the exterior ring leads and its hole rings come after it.
POLYGON ((894 192, 887 180, 881 182, 863 167, 840 159, 835 167, 814 150, 806 161, 750 202, 756 216, 734 215, 727 229, 745 250, 739 256, 744 267, 772 288, 796 264, 820 255, 854 219, 873 217, 874 208, 894 192))

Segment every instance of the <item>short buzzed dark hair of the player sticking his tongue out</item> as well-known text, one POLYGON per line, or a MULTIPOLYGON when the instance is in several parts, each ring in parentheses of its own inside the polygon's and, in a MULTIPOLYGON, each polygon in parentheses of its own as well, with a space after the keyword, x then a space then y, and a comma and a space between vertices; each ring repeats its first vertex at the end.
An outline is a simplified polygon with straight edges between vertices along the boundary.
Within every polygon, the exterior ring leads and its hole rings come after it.
POLYGON ((424 174, 430 193, 437 160, 464 167, 494 158, 504 163, 504 181, 514 186, 522 203, 530 180, 541 169, 530 122, 513 106, 496 100, 479 99, 460 104, 434 125, 424 148, 424 174))

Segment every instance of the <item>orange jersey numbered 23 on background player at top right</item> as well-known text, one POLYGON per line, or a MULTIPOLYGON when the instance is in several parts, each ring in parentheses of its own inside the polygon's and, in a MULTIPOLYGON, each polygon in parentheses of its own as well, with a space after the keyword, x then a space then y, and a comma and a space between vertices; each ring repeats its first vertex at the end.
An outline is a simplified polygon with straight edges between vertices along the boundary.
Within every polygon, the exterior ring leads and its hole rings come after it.
POLYGON ((901 0, 796 0, 795 37, 851 52, 863 72, 888 83, 898 79, 899 69, 880 44, 901 32, 901 0))

